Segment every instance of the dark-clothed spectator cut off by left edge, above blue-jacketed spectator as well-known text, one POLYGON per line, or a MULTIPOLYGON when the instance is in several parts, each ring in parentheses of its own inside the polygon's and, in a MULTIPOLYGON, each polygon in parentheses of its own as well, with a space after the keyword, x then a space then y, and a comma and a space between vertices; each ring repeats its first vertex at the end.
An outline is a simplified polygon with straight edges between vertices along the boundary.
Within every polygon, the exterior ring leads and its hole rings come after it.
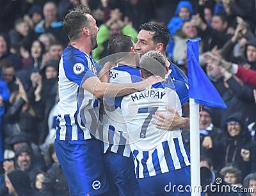
POLYGON ((10 60, 16 71, 22 68, 21 58, 10 52, 10 38, 8 34, 0 33, 0 62, 4 59, 10 60))

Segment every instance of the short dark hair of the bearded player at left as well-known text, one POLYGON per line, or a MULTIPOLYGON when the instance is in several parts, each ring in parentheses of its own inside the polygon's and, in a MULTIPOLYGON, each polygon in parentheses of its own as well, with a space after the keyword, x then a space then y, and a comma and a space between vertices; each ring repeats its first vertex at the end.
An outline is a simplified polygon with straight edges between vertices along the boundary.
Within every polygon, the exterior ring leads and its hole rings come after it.
POLYGON ((89 27, 86 14, 90 14, 91 10, 87 6, 78 5, 69 10, 63 22, 63 30, 71 40, 77 40, 84 26, 89 27))

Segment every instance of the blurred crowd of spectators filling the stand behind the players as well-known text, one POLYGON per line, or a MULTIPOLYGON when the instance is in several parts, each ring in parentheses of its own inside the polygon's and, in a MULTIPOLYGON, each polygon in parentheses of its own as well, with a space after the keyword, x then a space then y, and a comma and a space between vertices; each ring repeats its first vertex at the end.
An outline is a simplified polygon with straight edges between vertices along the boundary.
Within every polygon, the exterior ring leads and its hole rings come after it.
MULTIPOLYGON (((136 43, 140 25, 157 22, 170 31, 166 56, 187 74, 186 41, 201 38, 200 66, 227 105, 200 112, 201 163, 228 184, 256 192, 254 0, 1 0, 0 195, 8 195, 6 179, 24 193, 68 195, 53 142, 58 63, 68 45, 62 21, 77 4, 89 6, 99 26, 95 61, 108 56, 113 36, 127 34, 136 43), (221 68, 220 59, 238 64, 246 79, 221 68), (13 180, 24 179, 17 170, 28 181, 13 180)), ((189 147, 189 132, 183 135, 189 147)))

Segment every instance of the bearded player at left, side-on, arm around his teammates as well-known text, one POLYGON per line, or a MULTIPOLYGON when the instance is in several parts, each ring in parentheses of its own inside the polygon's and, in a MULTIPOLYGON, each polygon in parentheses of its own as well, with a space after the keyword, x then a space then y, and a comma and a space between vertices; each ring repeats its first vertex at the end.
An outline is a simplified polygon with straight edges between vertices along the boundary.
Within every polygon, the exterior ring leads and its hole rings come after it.
POLYGON ((101 82, 97 75, 102 73, 108 77, 104 70, 109 67, 101 70, 90 56, 97 47, 99 27, 86 6, 79 5, 70 10, 63 21, 63 30, 70 45, 63 51, 59 65, 56 155, 70 195, 100 195, 108 191, 108 181, 102 161, 102 142, 95 138, 99 119, 98 98, 129 94, 154 84, 160 78, 151 77, 134 84, 101 82))

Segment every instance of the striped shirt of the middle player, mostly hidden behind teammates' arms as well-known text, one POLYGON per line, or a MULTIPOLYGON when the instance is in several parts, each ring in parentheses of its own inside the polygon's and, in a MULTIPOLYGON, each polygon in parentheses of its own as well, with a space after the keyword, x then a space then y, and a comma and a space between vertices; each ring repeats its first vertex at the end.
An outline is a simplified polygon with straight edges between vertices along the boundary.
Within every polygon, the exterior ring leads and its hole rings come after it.
MULTIPOLYGON (((140 70, 125 64, 118 64, 110 70, 109 82, 118 84, 131 84, 140 82, 140 70)), ((106 114, 102 116, 103 134, 104 134, 104 153, 111 151, 123 156, 131 156, 129 147, 129 138, 127 136, 127 126, 124 122, 122 110, 115 107, 115 103, 120 103, 122 97, 116 97, 115 100, 108 98, 104 102, 106 114)))

